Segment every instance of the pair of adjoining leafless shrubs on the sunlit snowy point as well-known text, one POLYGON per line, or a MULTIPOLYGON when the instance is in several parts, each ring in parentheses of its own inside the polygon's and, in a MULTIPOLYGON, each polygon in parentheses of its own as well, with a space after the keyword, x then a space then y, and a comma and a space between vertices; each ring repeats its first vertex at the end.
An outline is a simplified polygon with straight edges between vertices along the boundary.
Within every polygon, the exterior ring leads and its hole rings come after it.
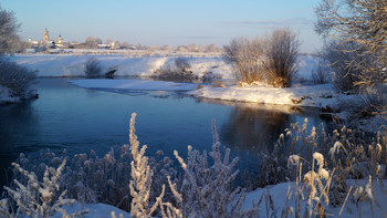
POLYGON ((265 38, 233 39, 223 46, 223 59, 231 64, 238 82, 266 82, 289 87, 297 72, 300 42, 289 29, 265 38))

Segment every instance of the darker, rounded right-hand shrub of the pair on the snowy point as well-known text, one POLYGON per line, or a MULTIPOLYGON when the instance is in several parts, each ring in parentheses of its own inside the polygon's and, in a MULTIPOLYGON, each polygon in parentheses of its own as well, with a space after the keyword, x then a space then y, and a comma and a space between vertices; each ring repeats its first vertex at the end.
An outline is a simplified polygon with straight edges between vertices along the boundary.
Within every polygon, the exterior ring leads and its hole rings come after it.
POLYGON ((265 40, 263 69, 268 83, 290 87, 297 71, 300 50, 297 37, 289 29, 273 31, 265 40))

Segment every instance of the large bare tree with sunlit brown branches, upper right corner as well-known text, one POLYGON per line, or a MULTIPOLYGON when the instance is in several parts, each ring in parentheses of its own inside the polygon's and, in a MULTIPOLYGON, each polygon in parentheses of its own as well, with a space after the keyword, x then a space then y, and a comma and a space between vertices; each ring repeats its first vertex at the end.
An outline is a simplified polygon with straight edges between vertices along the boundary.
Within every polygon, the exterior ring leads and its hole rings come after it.
POLYGON ((387 81, 387 1, 386 0, 322 0, 316 8, 315 31, 325 39, 356 43, 353 50, 365 61, 347 63, 360 72, 356 85, 373 86, 387 81), (369 59, 374 64, 368 64, 369 59))

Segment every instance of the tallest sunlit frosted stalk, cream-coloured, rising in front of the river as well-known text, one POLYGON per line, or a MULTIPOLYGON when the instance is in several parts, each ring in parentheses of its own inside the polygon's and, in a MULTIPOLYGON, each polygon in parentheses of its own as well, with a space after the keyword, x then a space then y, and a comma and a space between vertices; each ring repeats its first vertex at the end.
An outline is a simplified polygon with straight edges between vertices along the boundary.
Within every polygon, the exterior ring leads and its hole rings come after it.
POLYGON ((163 185, 163 190, 159 197, 156 198, 156 203, 150 206, 149 197, 151 190, 151 176, 154 172, 148 165, 148 157, 144 156, 146 145, 144 145, 140 150, 139 142, 135 134, 135 120, 136 114, 132 114, 130 118, 130 152, 133 155, 132 166, 132 179, 129 184, 130 195, 133 197, 130 205, 130 216, 133 217, 151 217, 156 211, 157 207, 161 205, 161 199, 165 191, 165 185, 163 185))

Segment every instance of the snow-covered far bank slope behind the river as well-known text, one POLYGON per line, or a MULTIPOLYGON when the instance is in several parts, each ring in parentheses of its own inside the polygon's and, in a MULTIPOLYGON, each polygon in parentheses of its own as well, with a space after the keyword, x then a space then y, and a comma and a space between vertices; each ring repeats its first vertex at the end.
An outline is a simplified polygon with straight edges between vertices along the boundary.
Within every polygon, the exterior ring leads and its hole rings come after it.
MULTIPOLYGON (((15 55, 11 59, 30 70, 38 70, 38 76, 83 76, 84 65, 88 58, 101 61, 103 70, 117 69, 116 75, 149 76, 156 69, 165 63, 171 63, 174 54, 147 56, 138 54, 28 54, 15 55)), ((219 54, 218 54, 219 55, 219 54)), ((221 56, 194 56, 186 55, 194 74, 201 77, 207 72, 220 75, 222 79, 232 79, 233 72, 221 56)), ((301 55, 299 59, 299 77, 311 80, 311 72, 317 68, 317 58, 314 55, 301 55)))

